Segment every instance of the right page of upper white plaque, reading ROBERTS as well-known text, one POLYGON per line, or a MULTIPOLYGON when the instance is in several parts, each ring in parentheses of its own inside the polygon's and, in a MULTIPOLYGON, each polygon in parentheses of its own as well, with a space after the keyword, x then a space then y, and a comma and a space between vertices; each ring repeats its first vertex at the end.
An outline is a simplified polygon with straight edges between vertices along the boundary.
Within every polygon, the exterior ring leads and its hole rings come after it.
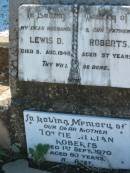
POLYGON ((130 88, 130 7, 81 6, 81 83, 130 88))

